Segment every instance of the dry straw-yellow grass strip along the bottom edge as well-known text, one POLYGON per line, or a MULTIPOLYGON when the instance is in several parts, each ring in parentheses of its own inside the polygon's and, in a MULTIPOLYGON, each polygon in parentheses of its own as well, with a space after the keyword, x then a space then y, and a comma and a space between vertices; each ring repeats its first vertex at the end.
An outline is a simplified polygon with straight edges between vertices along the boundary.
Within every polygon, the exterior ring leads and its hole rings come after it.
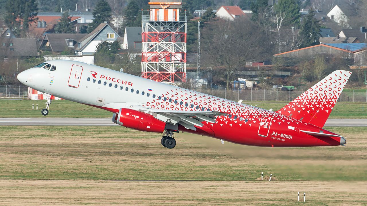
POLYGON ((367 182, 0 180, 0 205, 350 205, 367 182), (297 192, 301 192, 297 202, 297 192))

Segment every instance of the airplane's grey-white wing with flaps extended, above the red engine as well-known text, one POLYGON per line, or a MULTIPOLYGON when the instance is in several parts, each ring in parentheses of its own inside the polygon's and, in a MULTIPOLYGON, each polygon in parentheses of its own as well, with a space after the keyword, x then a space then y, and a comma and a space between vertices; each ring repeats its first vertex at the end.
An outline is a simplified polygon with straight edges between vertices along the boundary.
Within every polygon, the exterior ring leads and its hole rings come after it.
POLYGON ((153 115, 153 117, 172 125, 180 124, 187 129, 196 130, 195 126, 202 127, 201 122, 215 123, 217 116, 227 115, 219 111, 179 111, 179 110, 161 110, 143 106, 134 106, 130 109, 138 110, 143 113, 153 115))

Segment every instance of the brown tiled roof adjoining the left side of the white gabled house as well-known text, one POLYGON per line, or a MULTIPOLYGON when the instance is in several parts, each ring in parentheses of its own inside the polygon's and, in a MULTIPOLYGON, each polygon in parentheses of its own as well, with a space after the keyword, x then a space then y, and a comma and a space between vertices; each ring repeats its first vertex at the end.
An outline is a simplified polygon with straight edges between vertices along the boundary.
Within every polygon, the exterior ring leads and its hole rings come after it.
MULTIPOLYGON (((65 48, 68 47, 68 43, 65 39, 73 39, 74 41, 80 42, 80 39, 84 36, 86 36, 86 34, 46 34, 44 40, 48 40, 52 51, 61 52, 65 51, 65 48)), ((43 45, 43 43, 41 45, 43 45)))

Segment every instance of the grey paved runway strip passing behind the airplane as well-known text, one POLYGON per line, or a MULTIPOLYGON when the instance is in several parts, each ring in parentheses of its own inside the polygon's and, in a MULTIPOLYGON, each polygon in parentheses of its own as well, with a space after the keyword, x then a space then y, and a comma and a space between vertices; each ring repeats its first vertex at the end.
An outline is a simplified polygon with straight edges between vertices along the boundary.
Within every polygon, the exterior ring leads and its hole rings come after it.
MULTIPOLYGON (((1 125, 118 126, 112 118, 0 118, 1 125)), ((367 119, 328 119, 325 126, 367 126, 367 119)))

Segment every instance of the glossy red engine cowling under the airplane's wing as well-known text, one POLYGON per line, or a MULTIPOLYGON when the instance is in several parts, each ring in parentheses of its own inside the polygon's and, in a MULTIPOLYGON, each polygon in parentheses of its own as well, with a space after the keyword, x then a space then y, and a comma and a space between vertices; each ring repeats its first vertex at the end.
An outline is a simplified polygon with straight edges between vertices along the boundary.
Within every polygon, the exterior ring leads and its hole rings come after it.
POLYGON ((144 132, 162 133, 166 126, 166 122, 160 121, 152 115, 126 108, 120 108, 119 113, 113 114, 112 121, 121 126, 144 132))

